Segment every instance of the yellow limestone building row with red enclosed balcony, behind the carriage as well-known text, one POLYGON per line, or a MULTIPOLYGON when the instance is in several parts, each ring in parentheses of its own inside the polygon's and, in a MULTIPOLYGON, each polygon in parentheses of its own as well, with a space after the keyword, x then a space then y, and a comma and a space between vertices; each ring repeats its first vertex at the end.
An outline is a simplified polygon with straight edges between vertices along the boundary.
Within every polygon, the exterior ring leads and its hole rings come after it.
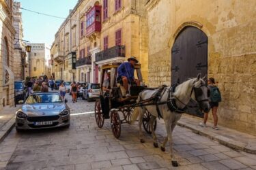
POLYGON ((53 70, 61 75, 55 79, 98 83, 102 65, 136 56, 147 82, 145 1, 78 1, 57 31, 51 52, 53 70), (72 69, 74 55, 76 67, 72 69))

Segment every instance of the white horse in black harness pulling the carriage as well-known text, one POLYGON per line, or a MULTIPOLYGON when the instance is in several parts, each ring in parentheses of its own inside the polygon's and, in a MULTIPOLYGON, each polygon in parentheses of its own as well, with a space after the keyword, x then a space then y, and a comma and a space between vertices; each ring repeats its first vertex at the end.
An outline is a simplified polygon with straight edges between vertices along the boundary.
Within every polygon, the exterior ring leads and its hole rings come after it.
MULTIPOLYGON (((180 117, 182 116, 181 114, 182 110, 185 107, 188 107, 188 102, 190 101, 190 99, 193 99, 197 101, 197 103, 199 104, 199 107, 203 110, 203 112, 210 111, 210 105, 208 101, 209 90, 205 85, 205 80, 203 79, 204 78, 201 78, 201 74, 199 74, 197 75, 197 78, 187 80, 186 82, 183 82, 182 84, 178 85, 175 88, 174 92, 171 92, 171 88, 165 87, 160 94, 160 100, 158 102, 162 104, 158 105, 158 108, 159 108, 158 111, 160 111, 159 113, 165 121, 165 127, 167 130, 167 137, 165 137, 165 140, 163 141, 160 148, 163 152, 165 152, 165 144, 167 143, 167 141, 169 141, 171 163, 173 167, 177 167, 178 164, 177 164, 177 161, 174 160, 174 156, 173 156, 173 148, 172 148, 173 141, 172 141, 171 134, 177 123, 177 120, 180 120, 180 117), (168 107, 167 105, 167 101, 170 101, 169 99, 170 97, 175 101, 174 108, 177 109, 176 112, 171 111, 171 108, 168 107)), ((156 95, 157 92, 158 92, 158 89, 143 90, 139 94, 137 103, 145 99, 150 99, 151 97, 154 97, 154 95, 156 95)), ((154 147, 158 148, 156 133, 153 130, 154 122, 158 117, 156 105, 145 105, 142 107, 135 107, 134 113, 132 114, 132 122, 137 120, 139 116, 139 137, 141 139, 141 143, 145 142, 143 139, 143 133, 141 131, 141 124, 142 124, 143 114, 145 113, 145 109, 147 109, 147 111, 150 112, 151 114, 150 130, 152 131, 152 135, 154 139, 154 147)))

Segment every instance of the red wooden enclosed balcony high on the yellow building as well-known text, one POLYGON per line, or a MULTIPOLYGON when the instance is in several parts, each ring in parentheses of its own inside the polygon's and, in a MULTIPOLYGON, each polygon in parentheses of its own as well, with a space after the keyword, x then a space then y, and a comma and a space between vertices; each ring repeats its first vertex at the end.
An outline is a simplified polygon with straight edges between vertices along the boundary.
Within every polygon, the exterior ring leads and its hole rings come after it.
POLYGON ((89 37, 93 33, 101 31, 101 6, 94 5, 86 14, 86 36, 89 37))

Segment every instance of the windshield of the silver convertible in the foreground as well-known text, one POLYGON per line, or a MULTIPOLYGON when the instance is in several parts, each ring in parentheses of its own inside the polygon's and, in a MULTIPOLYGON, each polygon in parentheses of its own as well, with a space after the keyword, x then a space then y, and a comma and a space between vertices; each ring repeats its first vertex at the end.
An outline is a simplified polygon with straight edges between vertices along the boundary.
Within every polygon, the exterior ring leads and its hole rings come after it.
POLYGON ((32 94, 27 98, 27 104, 33 103, 61 103, 61 97, 57 94, 40 93, 32 94))

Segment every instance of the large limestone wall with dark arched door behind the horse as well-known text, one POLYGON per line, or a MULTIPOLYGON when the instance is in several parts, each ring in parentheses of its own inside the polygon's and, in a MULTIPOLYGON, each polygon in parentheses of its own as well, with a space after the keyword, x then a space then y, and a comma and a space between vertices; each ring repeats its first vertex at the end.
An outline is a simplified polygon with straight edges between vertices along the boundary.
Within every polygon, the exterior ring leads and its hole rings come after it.
POLYGON ((256 135, 256 1, 147 1, 150 86, 201 72, 218 82, 218 122, 256 135))

